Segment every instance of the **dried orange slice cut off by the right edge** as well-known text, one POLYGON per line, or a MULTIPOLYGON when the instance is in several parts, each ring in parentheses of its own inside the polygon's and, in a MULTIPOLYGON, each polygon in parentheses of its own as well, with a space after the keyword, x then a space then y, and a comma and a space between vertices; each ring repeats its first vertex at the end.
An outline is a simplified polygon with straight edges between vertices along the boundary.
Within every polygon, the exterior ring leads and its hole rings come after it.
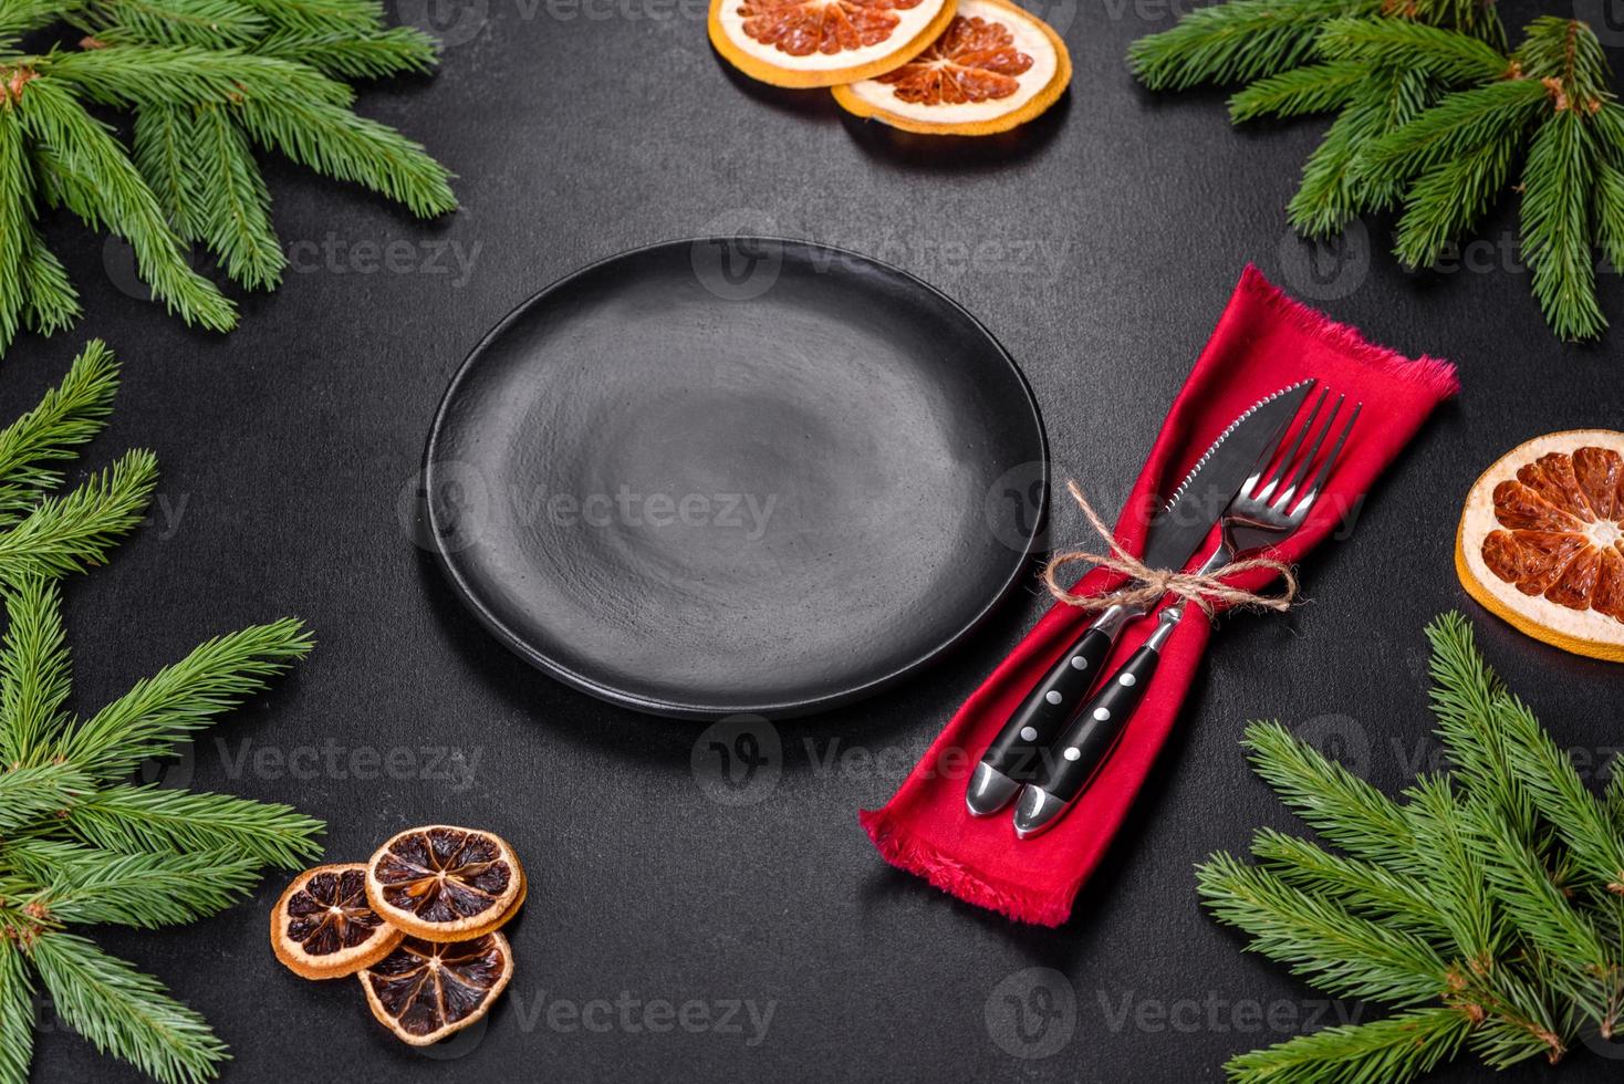
POLYGON ((1466 495, 1455 571, 1528 636, 1624 662, 1624 433, 1549 433, 1501 456, 1466 495))

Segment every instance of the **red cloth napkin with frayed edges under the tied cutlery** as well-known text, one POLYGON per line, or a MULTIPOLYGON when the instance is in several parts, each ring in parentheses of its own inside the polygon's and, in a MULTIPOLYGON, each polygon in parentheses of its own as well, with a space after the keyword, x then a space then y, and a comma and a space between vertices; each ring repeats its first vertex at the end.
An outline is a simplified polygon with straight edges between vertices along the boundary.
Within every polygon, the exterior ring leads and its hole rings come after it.
MULTIPOLYGON (((1247 266, 1124 505, 1116 526, 1122 545, 1132 553, 1143 552, 1155 500, 1184 477, 1237 414, 1309 376, 1333 394, 1346 393, 1350 402, 1363 402, 1364 412, 1307 523, 1280 547, 1285 561, 1298 561, 1337 529, 1432 407, 1460 389, 1453 365, 1429 357, 1410 360, 1372 346, 1356 329, 1291 300, 1247 266)), ((1086 490, 1088 479, 1080 482, 1086 490)), ((1208 544, 1216 544, 1216 531, 1208 544)), ((1272 576, 1257 570, 1233 583, 1255 591, 1272 576)), ((1121 576, 1096 568, 1073 591, 1099 594, 1117 583, 1121 576)), ((968 769, 1091 618, 1077 607, 1052 605, 971 693, 896 795, 880 810, 862 811, 862 826, 887 862, 1010 918, 1046 927, 1065 922, 1077 891, 1104 855, 1166 742, 1212 634, 1212 625, 1190 607, 1163 651, 1143 704, 1093 785, 1057 826, 1017 841, 1010 813, 984 819, 966 813, 968 769)), ((1111 665, 1138 647, 1151 628, 1155 622, 1148 620, 1130 625, 1111 665)))

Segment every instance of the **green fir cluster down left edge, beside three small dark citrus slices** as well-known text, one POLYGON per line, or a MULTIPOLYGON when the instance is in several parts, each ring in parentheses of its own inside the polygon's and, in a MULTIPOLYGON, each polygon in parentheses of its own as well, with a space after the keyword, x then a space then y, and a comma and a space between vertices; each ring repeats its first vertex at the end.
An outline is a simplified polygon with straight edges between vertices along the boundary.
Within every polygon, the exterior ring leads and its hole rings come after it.
POLYGON ((128 453, 54 493, 115 389, 112 352, 91 342, 0 430, 0 1084, 28 1081, 37 990, 99 1050, 166 1084, 216 1076, 226 1047, 201 1016, 68 930, 193 922, 242 899, 261 867, 320 852, 323 824, 286 805, 128 782, 141 759, 171 755, 309 652, 299 622, 218 636, 88 717, 68 709, 57 579, 99 563, 140 523, 156 480, 151 453, 128 453))

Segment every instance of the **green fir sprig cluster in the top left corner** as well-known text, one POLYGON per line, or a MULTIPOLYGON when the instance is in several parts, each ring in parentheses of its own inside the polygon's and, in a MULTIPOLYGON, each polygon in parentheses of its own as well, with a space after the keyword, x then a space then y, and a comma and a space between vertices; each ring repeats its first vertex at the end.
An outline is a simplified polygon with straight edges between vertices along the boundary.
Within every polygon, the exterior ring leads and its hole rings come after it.
POLYGON ((235 326, 237 308, 188 245, 247 289, 273 289, 286 268, 255 148, 419 217, 453 211, 451 174, 357 115, 343 81, 435 63, 434 39, 387 26, 382 0, 0 3, 0 354, 21 328, 52 334, 80 313, 36 227, 44 208, 123 237, 153 295, 213 331, 235 326), (63 29, 78 47, 55 44, 63 29), (26 52, 36 31, 55 37, 26 52), (135 114, 128 146, 91 107, 135 114))

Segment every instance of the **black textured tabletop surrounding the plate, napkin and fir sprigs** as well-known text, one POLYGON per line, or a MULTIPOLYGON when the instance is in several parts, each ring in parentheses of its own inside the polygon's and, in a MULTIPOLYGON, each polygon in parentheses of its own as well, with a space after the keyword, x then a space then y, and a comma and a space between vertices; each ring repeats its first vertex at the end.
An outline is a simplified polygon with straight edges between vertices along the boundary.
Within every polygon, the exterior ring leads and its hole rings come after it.
MULTIPOLYGON (((447 819, 500 831, 533 873, 510 993, 487 1030, 435 1058, 374 1024, 354 983, 300 982, 273 961, 279 873, 193 928, 102 935, 213 1021, 235 1053, 227 1079, 1220 1079, 1228 1055, 1356 1011, 1322 1011, 1195 904, 1192 862, 1289 823, 1236 748, 1246 719, 1301 724, 1379 784, 1402 784, 1434 751, 1421 626, 1465 607, 1559 742, 1605 756, 1624 737, 1624 672, 1484 618, 1450 568, 1462 495, 1489 461, 1546 430, 1624 424, 1624 333, 1585 349, 1551 338, 1515 266, 1512 208, 1453 273, 1403 274, 1390 221, 1356 227, 1311 269, 1281 208, 1320 123, 1236 133, 1221 96, 1158 99, 1124 68, 1129 41, 1168 26, 1177 0, 1052 0, 1072 92, 1021 138, 976 148, 896 141, 844 122, 823 94, 747 84, 711 55, 702 13, 671 0, 398 6, 447 32, 443 71, 370 91, 362 109, 461 174, 461 213, 421 226, 273 166, 299 269, 248 299, 231 338, 188 333, 133 297, 117 245, 55 222, 91 316, 21 342, 0 380, 10 417, 78 341, 106 336, 127 376, 88 464, 146 445, 164 469, 154 523, 68 586, 81 706, 208 634, 302 615, 320 638, 312 659, 161 777, 323 816, 333 860, 447 819), (425 425, 486 328, 586 261, 739 227, 853 247, 963 302, 1031 378, 1057 472, 1117 493, 1249 260, 1374 339, 1460 365, 1465 394, 1393 467, 1356 537, 1304 566, 1312 604, 1236 620, 1218 639, 1129 831, 1062 930, 1010 925, 890 870, 856 823, 1036 618, 1034 594, 893 693, 780 725, 776 787, 731 807, 690 769, 697 727, 528 670, 458 609, 403 526, 425 425), (404 247, 385 265, 375 253, 390 242, 404 247), (344 758, 404 750, 396 768, 442 777, 287 769, 310 768, 300 750, 325 743, 344 758), (447 748, 471 771, 443 777, 424 750, 447 748), (999 1014, 1033 983, 1062 1009, 1070 990, 1073 1008, 1047 1032, 1031 1016, 1023 1043, 999 1014), (742 1034, 650 1034, 549 1017, 554 1003, 622 995, 773 1016, 758 1042, 747 1019, 742 1034)), ((1614 274, 1603 282, 1618 320, 1624 290, 1614 274)), ((1561 1079, 1616 1079, 1619 1053, 1579 1052, 1561 1079)), ((1463 1061, 1440 1079, 1478 1073, 1463 1061)), ((36 1076, 135 1079, 49 1009, 36 1076)))

